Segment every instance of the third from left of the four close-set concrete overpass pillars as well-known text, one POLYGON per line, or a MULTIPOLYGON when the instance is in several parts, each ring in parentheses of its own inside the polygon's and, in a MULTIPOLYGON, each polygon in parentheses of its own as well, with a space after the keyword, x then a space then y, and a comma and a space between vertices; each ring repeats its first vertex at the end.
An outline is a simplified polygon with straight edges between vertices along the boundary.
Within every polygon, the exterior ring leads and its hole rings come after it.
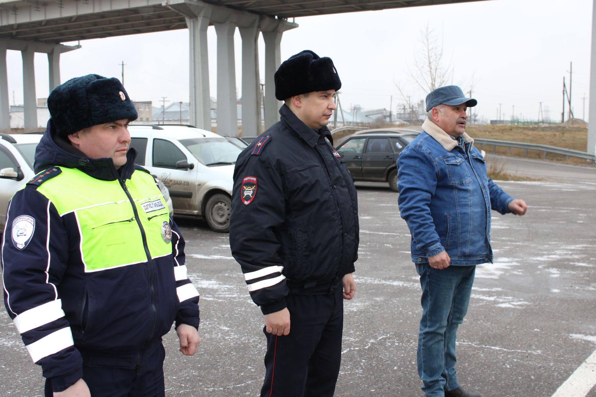
POLYGON ((240 27, 242 37, 242 135, 261 133, 259 90, 259 20, 240 27))

